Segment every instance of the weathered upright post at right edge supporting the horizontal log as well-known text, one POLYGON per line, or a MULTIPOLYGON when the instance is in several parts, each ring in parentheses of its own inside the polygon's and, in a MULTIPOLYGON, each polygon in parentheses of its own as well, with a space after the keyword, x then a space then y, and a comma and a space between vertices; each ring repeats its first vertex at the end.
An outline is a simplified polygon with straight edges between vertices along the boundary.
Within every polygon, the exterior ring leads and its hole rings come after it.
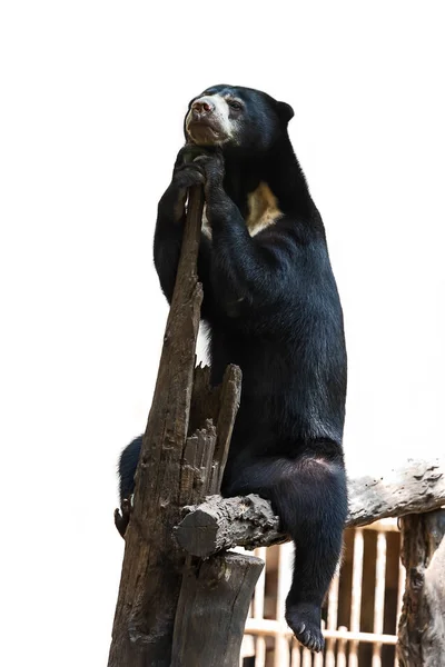
POLYGON ((400 667, 445 665, 445 510, 400 519, 406 587, 398 626, 400 667))

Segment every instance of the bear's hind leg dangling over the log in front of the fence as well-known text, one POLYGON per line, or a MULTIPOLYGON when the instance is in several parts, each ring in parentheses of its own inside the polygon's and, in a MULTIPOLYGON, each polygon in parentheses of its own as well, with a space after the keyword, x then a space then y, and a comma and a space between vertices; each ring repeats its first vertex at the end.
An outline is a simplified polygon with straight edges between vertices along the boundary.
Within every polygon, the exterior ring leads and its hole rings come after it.
POLYGON ((238 480, 225 495, 256 492, 268 498, 295 542, 293 584, 286 620, 307 648, 324 648, 322 604, 342 554, 347 514, 343 457, 256 459, 243 465, 238 480))

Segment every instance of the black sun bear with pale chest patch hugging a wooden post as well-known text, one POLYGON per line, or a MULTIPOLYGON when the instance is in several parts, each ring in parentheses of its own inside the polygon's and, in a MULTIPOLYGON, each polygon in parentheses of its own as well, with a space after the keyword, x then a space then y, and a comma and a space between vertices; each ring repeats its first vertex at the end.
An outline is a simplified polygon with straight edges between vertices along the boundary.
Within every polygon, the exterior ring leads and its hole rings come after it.
MULTIPOLYGON (((211 382, 229 364, 243 371, 221 492, 271 501, 295 542, 286 620, 318 651, 347 514, 346 349, 322 217, 288 137, 293 116, 250 88, 215 86, 191 100, 154 256, 171 301, 187 189, 202 183, 198 277, 211 382)), ((121 455, 121 500, 132 494, 140 444, 121 455)))

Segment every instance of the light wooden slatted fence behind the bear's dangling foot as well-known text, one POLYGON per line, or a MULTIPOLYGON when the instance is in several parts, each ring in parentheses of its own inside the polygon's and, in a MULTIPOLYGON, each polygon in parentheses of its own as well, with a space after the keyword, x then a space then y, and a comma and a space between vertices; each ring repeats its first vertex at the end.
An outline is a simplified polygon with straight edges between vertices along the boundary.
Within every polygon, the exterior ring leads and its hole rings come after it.
POLYGON ((342 569, 327 599, 324 654, 293 640, 284 619, 290 587, 290 542, 256 556, 266 561, 246 623, 240 665, 245 667, 398 667, 397 623, 405 589, 396 519, 383 519, 345 535, 342 569), (366 645, 366 648, 364 648, 366 645))

